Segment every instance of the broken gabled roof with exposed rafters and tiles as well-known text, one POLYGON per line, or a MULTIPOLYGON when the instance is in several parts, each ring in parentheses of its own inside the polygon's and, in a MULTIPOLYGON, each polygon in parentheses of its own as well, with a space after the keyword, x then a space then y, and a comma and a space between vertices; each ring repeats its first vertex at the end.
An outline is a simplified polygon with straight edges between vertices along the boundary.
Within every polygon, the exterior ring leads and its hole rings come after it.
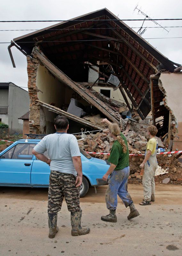
POLYGON ((48 59, 74 81, 77 67, 82 65, 83 74, 86 61, 96 66, 98 61, 112 65, 122 84, 119 90, 124 89, 142 119, 151 110, 150 75, 160 69, 173 72, 174 65, 178 66, 106 8, 15 38, 14 42, 29 55, 39 45, 48 59))

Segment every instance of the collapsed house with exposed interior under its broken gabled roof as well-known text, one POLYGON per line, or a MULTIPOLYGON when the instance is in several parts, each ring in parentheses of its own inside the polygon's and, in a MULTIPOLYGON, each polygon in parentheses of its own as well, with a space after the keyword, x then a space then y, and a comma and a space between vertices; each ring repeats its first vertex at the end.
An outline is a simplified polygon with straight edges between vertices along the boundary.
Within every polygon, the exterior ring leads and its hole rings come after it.
POLYGON ((178 122, 160 77, 180 65, 106 8, 13 39, 8 50, 15 67, 12 46, 27 56, 30 133, 54 132, 57 114, 69 119, 73 133, 103 129, 103 117, 122 123, 120 113, 130 110, 142 120, 152 111, 158 136, 168 133, 169 144, 175 138, 178 122), (91 70, 95 82, 90 82, 91 70), (117 90, 125 104, 97 92, 99 79, 105 88, 117 90))

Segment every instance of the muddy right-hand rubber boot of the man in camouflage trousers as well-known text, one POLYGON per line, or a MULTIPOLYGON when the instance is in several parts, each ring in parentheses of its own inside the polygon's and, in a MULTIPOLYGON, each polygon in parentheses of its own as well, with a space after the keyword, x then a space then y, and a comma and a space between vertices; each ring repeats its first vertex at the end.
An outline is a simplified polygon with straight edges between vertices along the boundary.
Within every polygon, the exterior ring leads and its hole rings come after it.
POLYGON ((90 228, 82 228, 82 210, 80 212, 71 212, 71 235, 72 236, 81 236, 86 235, 90 232, 90 228))

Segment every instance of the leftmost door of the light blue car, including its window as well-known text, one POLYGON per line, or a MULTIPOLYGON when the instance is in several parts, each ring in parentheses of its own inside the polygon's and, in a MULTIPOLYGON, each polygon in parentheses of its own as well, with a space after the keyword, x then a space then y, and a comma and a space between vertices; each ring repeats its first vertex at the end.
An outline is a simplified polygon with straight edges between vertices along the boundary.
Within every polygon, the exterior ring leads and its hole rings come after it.
POLYGON ((0 183, 30 184, 33 163, 32 149, 36 144, 17 143, 0 156, 0 183))

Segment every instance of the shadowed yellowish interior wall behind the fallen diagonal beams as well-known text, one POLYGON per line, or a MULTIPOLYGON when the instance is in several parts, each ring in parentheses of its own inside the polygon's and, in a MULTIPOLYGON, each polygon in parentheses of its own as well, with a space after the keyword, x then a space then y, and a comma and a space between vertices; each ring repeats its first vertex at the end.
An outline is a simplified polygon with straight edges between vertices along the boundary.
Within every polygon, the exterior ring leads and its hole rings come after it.
MULTIPOLYGON (((84 116, 100 115, 105 117, 97 108, 94 108, 86 100, 84 100, 77 92, 61 82, 57 77, 53 76, 51 72, 44 66, 39 65, 36 77, 36 86, 38 89, 38 100, 47 103, 53 107, 59 108, 67 112, 71 99, 75 99, 79 104, 82 104, 84 116)), ((46 134, 55 132, 54 118, 57 113, 50 111, 50 109, 42 107, 42 114, 40 116, 40 123, 44 124, 44 132, 46 134)), ((83 118, 84 116, 81 116, 83 118)), ((80 124, 68 118, 69 133, 81 132, 81 129, 92 131, 93 128, 80 124)))

